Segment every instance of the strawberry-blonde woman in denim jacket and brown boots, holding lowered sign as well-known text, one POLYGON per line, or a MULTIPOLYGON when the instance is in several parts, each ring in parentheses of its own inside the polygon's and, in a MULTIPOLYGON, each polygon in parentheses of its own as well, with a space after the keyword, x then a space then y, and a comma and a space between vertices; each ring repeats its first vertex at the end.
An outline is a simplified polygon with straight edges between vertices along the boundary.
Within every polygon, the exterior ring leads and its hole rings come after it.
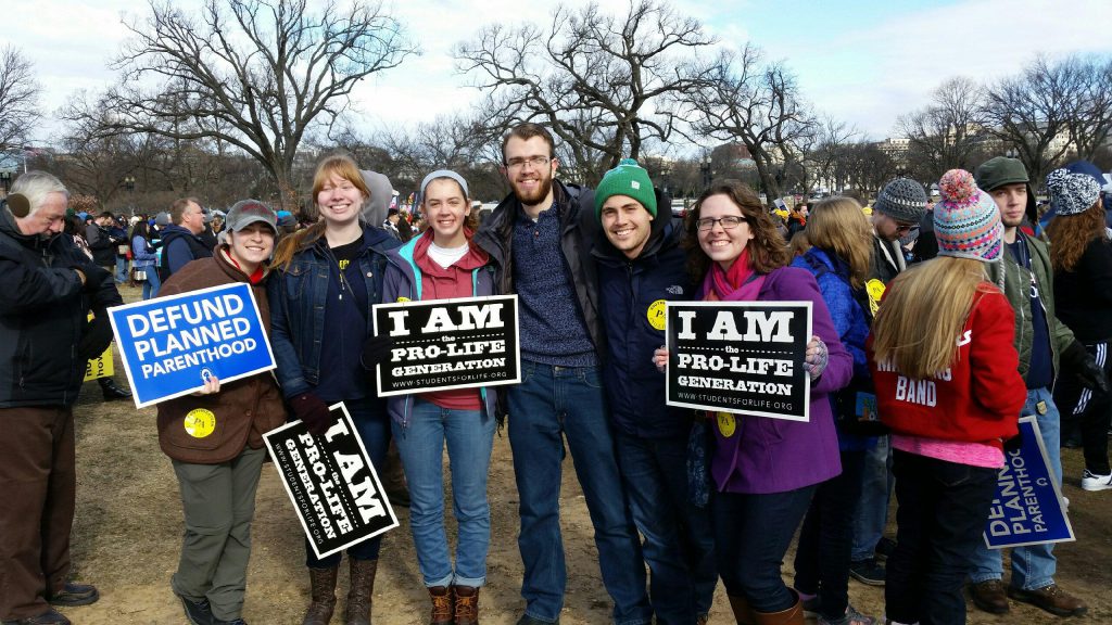
MULTIPOLYGON (((365 360, 365 353, 381 349, 370 331, 371 306, 381 300, 386 252, 398 241, 361 219, 370 191, 349 157, 327 157, 317 166, 312 197, 320 221, 279 244, 267 289, 278 384, 294 415, 317 435, 335 420, 328 406, 344 401, 371 463, 380 467, 389 419, 363 363, 377 359, 365 360)), ((370 623, 380 544, 376 537, 347 550, 348 625, 370 623)), ((340 558, 318 558, 306 543, 312 603, 304 625, 327 625, 331 618, 340 558)))

